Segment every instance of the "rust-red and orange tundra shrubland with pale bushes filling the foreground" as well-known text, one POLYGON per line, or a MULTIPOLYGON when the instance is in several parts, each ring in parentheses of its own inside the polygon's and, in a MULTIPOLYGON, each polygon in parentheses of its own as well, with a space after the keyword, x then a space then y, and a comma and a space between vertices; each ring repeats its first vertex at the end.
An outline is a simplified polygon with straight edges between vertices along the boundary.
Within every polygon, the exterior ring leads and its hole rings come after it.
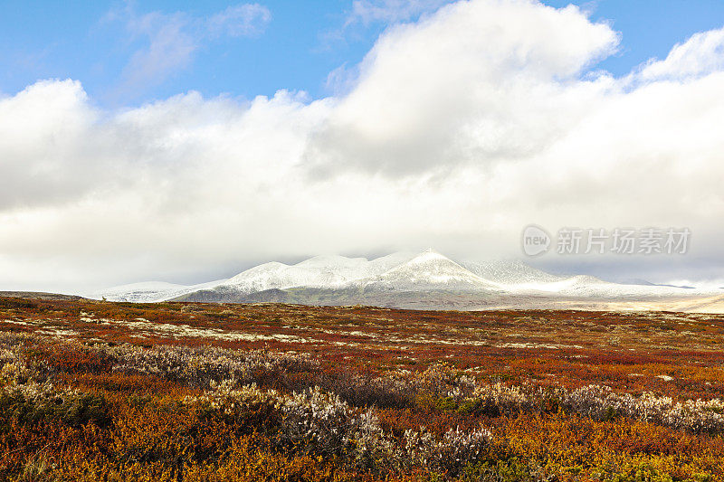
POLYGON ((724 480, 724 317, 0 298, 0 479, 724 480))

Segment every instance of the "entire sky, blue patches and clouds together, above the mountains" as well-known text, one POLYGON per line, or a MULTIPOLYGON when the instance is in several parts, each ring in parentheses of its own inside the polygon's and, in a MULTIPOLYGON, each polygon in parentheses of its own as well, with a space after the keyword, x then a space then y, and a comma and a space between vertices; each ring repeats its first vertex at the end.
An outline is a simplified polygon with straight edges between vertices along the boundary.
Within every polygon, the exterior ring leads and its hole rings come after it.
POLYGON ((719 1, 10 0, 0 66, 0 289, 521 257, 529 224, 686 227, 529 262, 724 279, 719 1))

